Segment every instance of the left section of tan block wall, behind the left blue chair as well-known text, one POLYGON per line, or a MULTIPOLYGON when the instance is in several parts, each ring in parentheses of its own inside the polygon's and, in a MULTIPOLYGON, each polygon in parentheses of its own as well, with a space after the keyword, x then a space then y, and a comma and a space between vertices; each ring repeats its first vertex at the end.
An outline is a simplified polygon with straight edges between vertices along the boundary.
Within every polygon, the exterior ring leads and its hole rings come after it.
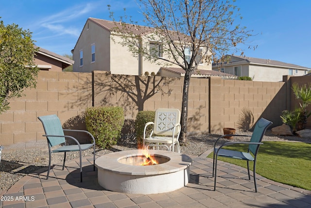
MULTIPOLYGON (((0 145, 28 149, 47 145, 38 116, 57 114, 64 124, 92 105, 81 95, 91 96, 91 74, 40 71, 36 89, 10 100, 11 109, 0 114, 0 145)), ((83 128, 83 127, 82 127, 83 128)))

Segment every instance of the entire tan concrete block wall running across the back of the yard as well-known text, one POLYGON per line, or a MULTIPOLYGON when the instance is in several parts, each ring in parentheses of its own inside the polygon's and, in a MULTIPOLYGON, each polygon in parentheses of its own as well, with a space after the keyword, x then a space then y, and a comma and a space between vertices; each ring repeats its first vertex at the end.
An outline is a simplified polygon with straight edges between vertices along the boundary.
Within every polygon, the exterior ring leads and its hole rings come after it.
MULTIPOLYGON (((286 82, 210 77, 191 78, 190 83, 190 133, 222 134, 224 127, 239 128, 245 108, 254 116, 254 122, 265 117, 276 126, 281 124, 281 111, 288 108, 286 82)), ((135 119, 138 109, 181 109, 182 89, 183 78, 41 71, 37 88, 26 89, 26 96, 12 99, 11 109, 0 115, 0 145, 6 149, 46 145, 37 119, 40 115, 55 113, 64 127, 85 129, 81 115, 91 106, 122 106, 126 119, 135 119), (154 88, 157 84, 159 87, 154 88)))

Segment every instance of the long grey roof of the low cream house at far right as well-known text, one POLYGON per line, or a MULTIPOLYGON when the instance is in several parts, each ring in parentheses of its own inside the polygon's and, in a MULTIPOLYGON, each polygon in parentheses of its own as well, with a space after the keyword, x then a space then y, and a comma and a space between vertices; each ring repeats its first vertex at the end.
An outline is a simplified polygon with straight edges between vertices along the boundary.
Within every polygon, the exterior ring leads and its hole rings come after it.
MULTIPOLYGON (((262 58, 253 58, 253 57, 242 57, 242 56, 230 56, 226 55, 226 57, 233 57, 234 60, 229 59, 228 62, 224 62, 223 66, 228 65, 242 65, 242 64, 255 64, 255 65, 265 65, 265 66, 274 66, 274 67, 282 67, 282 68, 291 68, 291 69, 302 69, 302 70, 310 70, 310 68, 285 63, 281 61, 271 60, 271 59, 262 59, 262 58)), ((213 64, 213 67, 219 66, 219 64, 213 64)))

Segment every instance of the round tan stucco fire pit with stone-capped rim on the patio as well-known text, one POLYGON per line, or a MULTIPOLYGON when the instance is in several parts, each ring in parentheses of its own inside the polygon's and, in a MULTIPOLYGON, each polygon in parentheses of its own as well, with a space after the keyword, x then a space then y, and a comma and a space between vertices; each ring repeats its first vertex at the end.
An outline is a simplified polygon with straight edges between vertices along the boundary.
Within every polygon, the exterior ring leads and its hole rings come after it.
POLYGON ((152 166, 133 165, 140 150, 118 151, 96 159, 98 183, 122 193, 153 194, 180 189, 188 184, 192 159, 172 151, 149 150, 162 161, 152 166))

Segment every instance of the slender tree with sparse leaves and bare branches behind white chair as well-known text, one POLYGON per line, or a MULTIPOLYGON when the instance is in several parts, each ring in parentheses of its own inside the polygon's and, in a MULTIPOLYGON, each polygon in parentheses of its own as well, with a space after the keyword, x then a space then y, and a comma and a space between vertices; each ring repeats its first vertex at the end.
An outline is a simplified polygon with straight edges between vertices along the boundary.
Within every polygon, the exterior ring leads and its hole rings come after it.
MULTIPOLYGON (((235 24, 241 17, 230 0, 138 2, 145 26, 138 26, 125 14, 121 17, 122 23, 116 24, 115 32, 121 37, 119 43, 127 46, 134 56, 142 56, 161 66, 177 65, 185 71, 181 109, 181 142, 185 142, 191 75, 202 62, 211 64, 228 52, 238 52, 237 46, 246 42, 251 31, 235 24), (127 24, 123 23, 125 21, 127 24), (160 43, 163 56, 152 53, 149 42, 144 39, 160 43)), ((110 14, 113 18, 113 13, 110 14)))

